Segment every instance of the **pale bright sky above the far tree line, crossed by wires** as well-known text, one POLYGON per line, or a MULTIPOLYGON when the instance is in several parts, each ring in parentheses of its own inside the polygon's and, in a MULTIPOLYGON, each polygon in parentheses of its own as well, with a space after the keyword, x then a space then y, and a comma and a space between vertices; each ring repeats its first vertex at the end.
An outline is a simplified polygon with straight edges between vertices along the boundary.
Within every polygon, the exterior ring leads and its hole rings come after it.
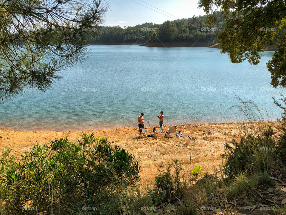
POLYGON ((144 22, 158 24, 206 14, 203 9, 198 9, 198 0, 105 0, 105 3, 108 3, 110 11, 105 15, 104 26, 128 27, 144 22))

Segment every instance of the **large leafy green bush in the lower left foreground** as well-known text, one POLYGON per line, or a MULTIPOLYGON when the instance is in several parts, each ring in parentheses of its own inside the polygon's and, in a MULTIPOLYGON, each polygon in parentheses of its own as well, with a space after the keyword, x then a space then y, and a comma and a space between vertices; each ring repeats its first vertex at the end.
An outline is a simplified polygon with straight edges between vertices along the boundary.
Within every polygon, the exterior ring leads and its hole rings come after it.
POLYGON ((0 201, 9 214, 65 214, 71 206, 100 208, 127 195, 139 181, 134 156, 107 139, 84 134, 77 142, 55 139, 35 145, 16 162, 5 150, 0 163, 0 201), (22 210, 22 207, 34 210, 22 210))

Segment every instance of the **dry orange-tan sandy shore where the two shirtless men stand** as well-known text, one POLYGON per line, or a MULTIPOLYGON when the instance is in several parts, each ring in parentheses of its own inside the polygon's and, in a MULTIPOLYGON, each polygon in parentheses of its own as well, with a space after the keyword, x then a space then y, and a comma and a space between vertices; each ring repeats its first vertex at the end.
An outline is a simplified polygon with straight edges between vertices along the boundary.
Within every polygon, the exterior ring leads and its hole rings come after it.
MULTIPOLYGON (((273 122, 277 125, 278 122, 273 122)), ((233 138, 243 135, 243 129, 251 129, 251 123, 210 123, 181 125, 183 137, 167 139, 161 137, 138 139, 138 128, 117 128, 106 130, 88 130, 95 136, 107 137, 113 141, 112 145, 120 145, 135 155, 142 165, 142 185, 152 183, 158 173, 161 163, 167 166, 173 159, 182 160, 186 174, 189 169, 200 165, 203 173, 214 172, 223 160, 220 154, 224 153, 224 144, 233 138), (189 138, 189 137, 190 138, 189 138)), ((167 126, 163 126, 167 131, 167 126)), ((149 128, 148 133, 153 133, 149 128)), ((70 141, 79 139, 82 131, 55 132, 55 131, 13 131, 0 130, 0 153, 5 148, 12 148, 11 155, 20 157, 35 143, 43 145, 49 140, 68 137, 70 141)))

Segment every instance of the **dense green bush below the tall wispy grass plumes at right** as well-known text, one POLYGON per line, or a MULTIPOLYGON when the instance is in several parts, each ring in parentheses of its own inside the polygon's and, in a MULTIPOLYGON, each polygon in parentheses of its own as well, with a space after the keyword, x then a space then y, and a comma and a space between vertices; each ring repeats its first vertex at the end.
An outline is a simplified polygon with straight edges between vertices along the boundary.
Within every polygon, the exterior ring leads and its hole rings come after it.
POLYGON ((267 124, 260 132, 253 135, 247 133, 240 138, 240 142, 235 139, 225 144, 226 152, 222 155, 226 158, 224 173, 233 178, 239 173, 257 173, 268 178, 268 171, 271 167, 271 159, 276 150, 273 141, 273 129, 267 124), (268 150, 269 149, 269 150, 268 150), (273 149, 273 150, 270 150, 273 149), (274 150, 275 149, 275 150, 274 150))

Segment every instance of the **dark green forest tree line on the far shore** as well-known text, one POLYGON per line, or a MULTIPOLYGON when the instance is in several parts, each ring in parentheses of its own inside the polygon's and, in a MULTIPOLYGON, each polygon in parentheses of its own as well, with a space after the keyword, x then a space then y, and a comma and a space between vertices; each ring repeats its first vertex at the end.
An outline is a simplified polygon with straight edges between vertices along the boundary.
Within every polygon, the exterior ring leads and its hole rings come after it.
POLYGON ((223 28, 221 13, 217 13, 217 22, 205 24, 207 15, 193 16, 188 19, 165 21, 162 24, 143 23, 128 27, 102 27, 100 36, 91 39, 91 44, 122 44, 151 42, 212 42, 223 28))

